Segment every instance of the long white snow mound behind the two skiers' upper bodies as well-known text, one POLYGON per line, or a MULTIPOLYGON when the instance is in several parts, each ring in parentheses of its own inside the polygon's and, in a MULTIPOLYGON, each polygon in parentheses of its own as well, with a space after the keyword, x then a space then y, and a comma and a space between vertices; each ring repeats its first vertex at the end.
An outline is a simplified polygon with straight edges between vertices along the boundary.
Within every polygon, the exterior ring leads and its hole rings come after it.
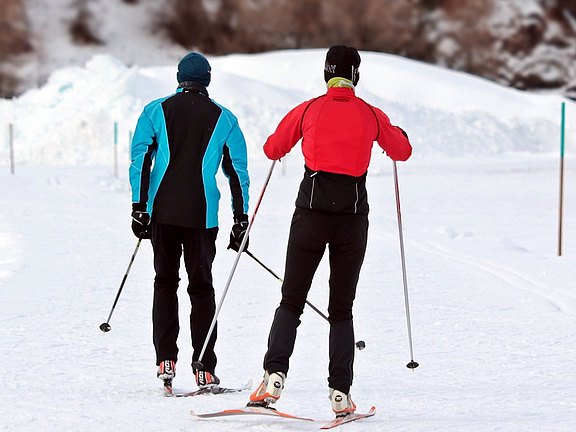
MULTIPOLYGON (((325 91, 324 50, 210 58, 209 91, 238 116, 250 156, 296 103, 325 91)), ((176 65, 128 67, 97 55, 61 69, 20 98, 0 100, 0 119, 15 130, 16 163, 108 164, 127 157, 142 107, 176 88, 176 65)), ((558 147, 561 98, 511 90, 471 75, 401 57, 363 53, 360 97, 381 107, 409 134, 415 157, 551 152, 558 147)), ((7 127, 0 125, 7 135, 7 127)), ((0 137, 6 142, 6 137, 0 137)), ((0 163, 7 164, 7 146, 0 163)))

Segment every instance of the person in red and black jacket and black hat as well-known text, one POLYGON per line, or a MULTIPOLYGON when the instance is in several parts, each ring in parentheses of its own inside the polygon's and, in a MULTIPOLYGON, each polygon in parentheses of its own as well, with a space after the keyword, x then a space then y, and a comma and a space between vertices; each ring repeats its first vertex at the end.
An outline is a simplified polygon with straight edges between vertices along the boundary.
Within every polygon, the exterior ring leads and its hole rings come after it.
POLYGON ((280 397, 312 278, 328 245, 330 400, 336 416, 353 413, 350 398, 354 363, 352 306, 368 237, 366 174, 374 141, 394 161, 412 147, 407 134, 381 110, 356 96, 360 55, 336 45, 324 67, 326 94, 290 111, 264 144, 271 160, 284 157, 302 139, 304 178, 292 218, 282 300, 276 310, 264 380, 250 404, 268 406, 280 397))

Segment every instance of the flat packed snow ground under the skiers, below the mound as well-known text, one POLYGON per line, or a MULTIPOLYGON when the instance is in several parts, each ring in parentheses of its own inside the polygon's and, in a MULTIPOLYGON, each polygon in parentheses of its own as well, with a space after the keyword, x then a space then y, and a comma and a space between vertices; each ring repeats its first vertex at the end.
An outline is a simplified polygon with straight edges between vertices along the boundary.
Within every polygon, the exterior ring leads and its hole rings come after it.
MULTIPOLYGON (((575 254, 555 257, 549 235, 554 231, 554 199, 546 189, 554 183, 554 159, 478 161, 468 170, 456 161, 453 170, 433 162, 400 167, 415 360, 421 365, 414 373, 404 367, 409 359, 393 183, 384 158, 381 163, 381 174, 369 177, 370 241, 355 307, 356 333, 367 348, 356 355, 352 392, 358 404, 381 406, 370 427, 570 430, 576 383, 561 365, 573 358, 576 342, 571 288, 575 254), (514 182, 507 169, 490 173, 494 164, 512 169, 525 162, 534 170, 517 179, 520 190, 510 189, 514 182), (468 190, 458 195, 460 185, 480 183, 490 194, 468 190), (524 188, 532 192, 524 193, 524 188), (510 196, 508 212, 494 208, 493 203, 510 196), (450 204, 456 201, 458 205, 450 204), (530 212, 521 216, 523 209, 533 207, 542 209, 541 219, 534 221, 537 229, 530 212), (486 223, 492 219, 499 224, 486 223)), ((266 167, 264 162, 252 164, 256 185, 266 167)), ((278 173, 272 179, 250 239, 253 253, 279 271, 293 208, 287 195, 297 189, 299 170, 290 166, 285 176, 278 173)), ((0 246, 2 256, 11 257, 0 280, 0 362, 5 370, 21 371, 0 378, 5 389, 0 403, 11 413, 2 420, 6 430, 103 431, 132 424, 133 430, 152 431, 159 426, 158 410, 165 413, 162 427, 174 430, 237 430, 250 423, 193 423, 188 414, 190 409, 208 412, 241 404, 245 394, 193 401, 163 397, 150 341, 149 244, 143 244, 134 263, 112 331, 98 329, 136 242, 129 228, 125 178, 115 179, 101 167, 31 166, 0 179, 9 191, 0 212, 5 222, 1 231, 3 238, 12 239, 0 246)), ((215 263, 218 292, 234 259, 226 251, 227 219, 222 218, 215 263)), ((567 234, 572 235, 566 241, 569 250, 576 244, 573 227, 567 234)), ((310 301, 324 309, 326 283, 323 262, 310 301)), ((279 286, 257 263, 247 257, 240 261, 220 318, 223 384, 238 386, 248 377, 260 378, 279 286)), ((188 310, 183 298, 182 316, 188 310)), ((321 317, 305 312, 279 409, 311 417, 324 413, 330 419, 327 331, 321 317), (311 395, 305 401, 304 389, 311 395)), ((184 326, 181 336, 175 385, 188 387, 194 378, 187 367, 184 326)), ((256 429, 269 426, 254 424, 256 429)), ((363 430, 360 423, 348 427, 363 430)), ((309 430, 282 423, 274 428, 309 430)))

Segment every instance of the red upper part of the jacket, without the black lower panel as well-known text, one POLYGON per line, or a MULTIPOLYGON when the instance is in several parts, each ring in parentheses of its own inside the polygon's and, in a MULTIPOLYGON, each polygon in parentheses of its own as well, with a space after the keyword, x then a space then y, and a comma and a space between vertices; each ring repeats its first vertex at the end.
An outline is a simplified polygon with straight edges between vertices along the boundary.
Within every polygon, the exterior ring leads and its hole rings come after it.
POLYGON ((368 170, 374 141, 395 161, 412 153, 402 129, 348 88, 330 88, 290 111, 264 144, 264 153, 280 159, 300 138, 308 168, 355 177, 368 170))

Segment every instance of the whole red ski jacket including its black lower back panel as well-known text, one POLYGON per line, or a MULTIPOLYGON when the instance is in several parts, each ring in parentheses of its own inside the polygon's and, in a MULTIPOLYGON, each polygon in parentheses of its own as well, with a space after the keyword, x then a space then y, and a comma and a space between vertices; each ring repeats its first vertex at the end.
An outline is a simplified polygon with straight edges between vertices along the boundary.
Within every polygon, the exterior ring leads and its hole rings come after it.
POLYGON ((331 213, 368 214, 366 173, 374 141, 394 161, 412 154, 406 133, 349 88, 330 88, 290 111, 264 153, 280 159, 301 138, 306 172, 296 207, 331 213))

